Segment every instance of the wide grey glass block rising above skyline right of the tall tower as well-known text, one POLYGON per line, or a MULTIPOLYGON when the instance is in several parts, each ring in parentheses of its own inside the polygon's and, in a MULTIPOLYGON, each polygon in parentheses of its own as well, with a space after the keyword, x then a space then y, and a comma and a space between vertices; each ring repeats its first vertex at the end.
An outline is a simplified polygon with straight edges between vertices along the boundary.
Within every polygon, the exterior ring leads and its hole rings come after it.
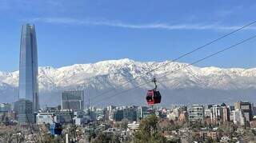
POLYGON ((84 91, 64 91, 62 92, 62 109, 83 110, 84 91))

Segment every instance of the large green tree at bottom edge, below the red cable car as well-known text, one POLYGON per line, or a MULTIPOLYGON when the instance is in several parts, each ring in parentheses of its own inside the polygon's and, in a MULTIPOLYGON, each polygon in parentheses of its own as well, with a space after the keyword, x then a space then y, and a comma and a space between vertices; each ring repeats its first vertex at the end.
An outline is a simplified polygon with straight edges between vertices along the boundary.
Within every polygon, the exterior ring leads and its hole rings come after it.
POLYGON ((134 142, 136 143, 164 143, 166 137, 158 130, 158 117, 150 115, 140 122, 138 131, 134 133, 134 142))

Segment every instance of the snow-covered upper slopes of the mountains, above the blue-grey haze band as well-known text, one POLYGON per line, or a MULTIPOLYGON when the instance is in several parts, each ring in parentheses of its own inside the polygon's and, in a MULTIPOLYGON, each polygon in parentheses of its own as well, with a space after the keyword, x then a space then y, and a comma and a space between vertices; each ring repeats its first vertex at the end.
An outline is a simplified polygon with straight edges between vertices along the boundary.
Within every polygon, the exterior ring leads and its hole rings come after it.
MULTIPOLYGON (((134 62, 130 59, 121 59, 77 64, 58 69, 39 67, 39 90, 42 94, 51 94, 66 89, 86 89, 91 93, 90 96, 94 97, 102 91, 113 89, 114 92, 118 92, 146 82, 149 83, 142 85, 141 88, 151 89, 153 84, 150 83, 150 79, 153 77, 157 77, 159 89, 165 91, 177 89, 256 90, 256 69, 186 66, 188 64, 178 62, 134 62), (154 70, 156 67, 160 68, 154 70), (151 70, 154 72, 150 72, 151 70)), ((10 91, 8 93, 13 91, 13 94, 17 96, 17 89, 18 71, 0 72, 0 97, 1 94, 6 94, 4 91, 7 90, 10 91)), ((135 94, 138 93, 135 92, 135 94)))

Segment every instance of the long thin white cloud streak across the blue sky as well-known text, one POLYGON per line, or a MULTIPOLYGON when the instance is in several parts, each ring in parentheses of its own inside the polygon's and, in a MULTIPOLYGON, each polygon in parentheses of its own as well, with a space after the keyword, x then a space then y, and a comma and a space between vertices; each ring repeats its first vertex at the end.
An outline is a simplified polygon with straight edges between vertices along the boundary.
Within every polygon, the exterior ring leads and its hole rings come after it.
MULTIPOLYGON (((164 29, 164 30, 235 30, 241 26, 220 26, 218 24, 176 24, 150 23, 150 24, 130 24, 120 21, 75 19, 75 18, 33 18, 31 22, 45 22, 63 25, 87 25, 87 26, 113 26, 130 29, 164 29)), ((255 26, 246 29, 256 30, 255 26)))

